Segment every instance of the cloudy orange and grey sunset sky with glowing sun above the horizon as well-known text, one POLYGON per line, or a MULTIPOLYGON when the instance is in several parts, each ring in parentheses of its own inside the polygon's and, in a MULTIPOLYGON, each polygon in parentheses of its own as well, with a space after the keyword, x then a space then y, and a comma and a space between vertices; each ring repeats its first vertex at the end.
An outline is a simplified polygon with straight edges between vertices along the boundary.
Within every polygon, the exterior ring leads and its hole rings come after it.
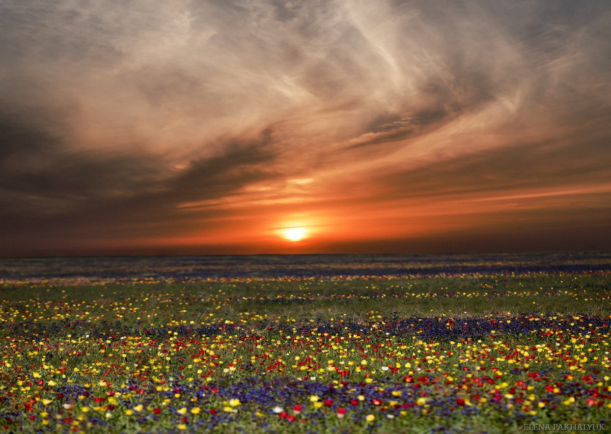
POLYGON ((611 2, 2 0, 0 256, 611 249, 611 2))

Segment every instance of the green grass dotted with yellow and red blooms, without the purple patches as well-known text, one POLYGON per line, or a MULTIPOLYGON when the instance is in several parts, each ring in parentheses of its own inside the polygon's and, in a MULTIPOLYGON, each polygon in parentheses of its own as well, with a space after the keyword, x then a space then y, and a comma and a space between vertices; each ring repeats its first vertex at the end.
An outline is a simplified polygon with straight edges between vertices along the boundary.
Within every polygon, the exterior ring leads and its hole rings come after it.
MULTIPOLYGON (((229 433, 391 433, 430 432, 436 426, 458 432, 467 427, 475 432, 521 432, 524 423, 599 423, 611 412, 611 383, 604 379, 611 375, 611 339, 606 325, 590 323, 591 318, 611 314, 609 281, 607 273, 538 273, 7 286, 0 292, 0 425, 4 420, 9 432, 203 431, 212 424, 229 433), (442 328, 448 322, 448 330, 458 330, 457 337, 429 336, 419 329, 419 320, 433 317, 439 317, 442 328), (414 327, 384 329, 399 318, 412 318, 414 327), (534 318, 550 320, 557 328, 461 335, 463 322, 477 318, 525 325, 534 318), (344 329, 352 324, 367 328, 358 333, 344 329), (210 336, 198 331, 211 327, 216 332, 210 336), (331 328, 325 335, 318 327, 331 328), (155 334, 147 335, 151 330, 155 334), (431 362, 423 360, 425 356, 431 362), (301 364, 308 357, 310 361, 301 364), (229 370, 231 364, 235 370, 229 370), (349 376, 341 377, 327 369, 330 366, 349 370, 349 376), (396 372, 382 369, 386 367, 396 372), (543 380, 529 376, 541 372, 543 380), (439 380, 415 380, 420 388, 403 381, 422 375, 439 380), (463 388, 485 375, 492 384, 463 388), (594 380, 584 380, 588 375, 594 380), (306 383, 311 380, 301 380, 305 377, 314 377, 312 384, 334 387, 324 392, 334 403, 315 408, 308 400, 312 391, 306 383), (249 384, 272 384, 274 378, 280 381, 274 386, 276 405, 291 415, 293 403, 305 406, 296 421, 274 414, 265 397, 243 399, 235 415, 223 410, 236 384, 247 390, 249 384), (100 380, 111 383, 112 389, 100 380), (340 381, 346 384, 340 386, 340 381), (532 389, 522 390, 516 386, 519 382, 532 389), (545 388, 557 383, 562 384, 558 392, 545 388), (203 386, 219 391, 203 392, 203 386), (512 387, 517 389, 510 394, 512 387), (500 401, 492 403, 495 390, 500 401), (109 391, 120 396, 113 410, 103 408, 109 405, 109 391), (392 391, 401 394, 393 397, 392 391), (58 393, 64 397, 59 399, 58 393), (350 404, 359 394, 379 394, 382 403, 350 404), (476 402, 474 395, 486 402, 476 402), (567 401, 571 395, 576 402, 567 401), (95 402, 94 397, 104 400, 95 402), (456 405, 457 398, 472 405, 456 405), (43 399, 51 401, 45 406, 43 399), (394 401, 409 406, 382 410, 394 401), (455 409, 444 413, 452 403, 455 409), (142 410, 134 411, 139 404, 142 410), (346 417, 336 416, 337 406, 348 408, 346 417), (159 414, 153 413, 155 408, 159 414), (186 414, 178 411, 181 408, 186 414), (191 408, 200 413, 192 414, 191 408), (214 419, 213 408, 218 411, 215 417, 223 417, 214 419), (463 414, 465 408, 477 411, 463 414), (375 419, 367 422, 367 414, 375 419)), ((320 392, 321 400, 324 396, 320 392)))

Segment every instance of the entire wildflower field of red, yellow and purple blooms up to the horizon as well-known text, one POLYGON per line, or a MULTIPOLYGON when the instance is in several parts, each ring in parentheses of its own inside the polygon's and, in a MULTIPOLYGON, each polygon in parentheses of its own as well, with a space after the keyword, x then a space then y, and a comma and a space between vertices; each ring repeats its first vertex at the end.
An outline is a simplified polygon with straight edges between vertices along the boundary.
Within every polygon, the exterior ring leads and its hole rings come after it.
POLYGON ((609 254, 214 261, 2 260, 0 426, 611 426, 609 254))

